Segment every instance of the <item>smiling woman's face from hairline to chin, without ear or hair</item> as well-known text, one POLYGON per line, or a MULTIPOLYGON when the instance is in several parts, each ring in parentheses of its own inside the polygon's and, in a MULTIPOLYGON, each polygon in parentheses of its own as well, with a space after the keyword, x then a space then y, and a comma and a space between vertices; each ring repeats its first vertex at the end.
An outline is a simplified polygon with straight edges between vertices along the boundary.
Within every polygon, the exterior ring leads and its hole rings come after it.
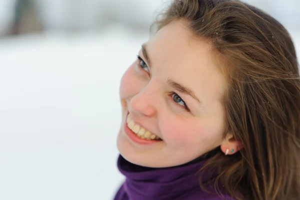
POLYGON ((226 81, 212 47, 174 21, 146 42, 120 85, 120 154, 148 167, 189 162, 221 145, 226 81))

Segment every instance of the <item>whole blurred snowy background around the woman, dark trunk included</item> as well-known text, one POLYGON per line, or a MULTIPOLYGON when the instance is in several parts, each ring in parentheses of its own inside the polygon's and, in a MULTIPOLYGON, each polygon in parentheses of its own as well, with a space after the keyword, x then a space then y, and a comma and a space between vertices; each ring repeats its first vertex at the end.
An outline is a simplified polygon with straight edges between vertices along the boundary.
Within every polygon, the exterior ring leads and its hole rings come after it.
MULTIPOLYGON (((300 1, 247 0, 290 32, 300 1)), ((0 0, 0 199, 111 199, 119 81, 169 0, 0 0)))

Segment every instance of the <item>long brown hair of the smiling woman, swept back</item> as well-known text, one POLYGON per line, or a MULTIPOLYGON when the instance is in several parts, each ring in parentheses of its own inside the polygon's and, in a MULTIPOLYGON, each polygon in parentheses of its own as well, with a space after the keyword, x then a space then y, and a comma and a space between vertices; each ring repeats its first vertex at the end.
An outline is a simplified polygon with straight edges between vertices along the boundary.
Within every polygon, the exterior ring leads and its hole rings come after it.
POLYGON ((236 199, 299 199, 300 79, 288 32, 230 0, 177 0, 153 25, 159 30, 174 20, 211 44, 229 85, 224 138, 232 133, 243 144, 231 156, 219 150, 200 171, 217 169, 215 192, 236 199))

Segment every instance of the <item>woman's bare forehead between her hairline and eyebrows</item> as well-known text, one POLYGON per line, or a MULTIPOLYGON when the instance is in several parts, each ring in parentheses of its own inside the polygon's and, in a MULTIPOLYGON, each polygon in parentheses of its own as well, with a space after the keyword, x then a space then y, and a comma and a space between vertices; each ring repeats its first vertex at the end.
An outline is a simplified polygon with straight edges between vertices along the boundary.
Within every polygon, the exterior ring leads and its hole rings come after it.
POLYGON ((146 48, 153 71, 162 79, 171 78, 196 94, 221 98, 226 81, 220 73, 207 40, 196 38, 184 21, 174 21, 160 29, 146 48), (209 96, 210 95, 210 96, 209 96))

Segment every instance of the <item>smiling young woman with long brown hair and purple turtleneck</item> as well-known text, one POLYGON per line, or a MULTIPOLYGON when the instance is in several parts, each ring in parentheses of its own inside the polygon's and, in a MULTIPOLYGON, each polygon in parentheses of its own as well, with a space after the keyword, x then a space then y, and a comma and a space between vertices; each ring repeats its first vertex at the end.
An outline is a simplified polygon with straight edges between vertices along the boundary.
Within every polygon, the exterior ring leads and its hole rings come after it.
POLYGON ((115 200, 300 199, 287 31, 238 1, 177 0, 120 85, 115 200))

